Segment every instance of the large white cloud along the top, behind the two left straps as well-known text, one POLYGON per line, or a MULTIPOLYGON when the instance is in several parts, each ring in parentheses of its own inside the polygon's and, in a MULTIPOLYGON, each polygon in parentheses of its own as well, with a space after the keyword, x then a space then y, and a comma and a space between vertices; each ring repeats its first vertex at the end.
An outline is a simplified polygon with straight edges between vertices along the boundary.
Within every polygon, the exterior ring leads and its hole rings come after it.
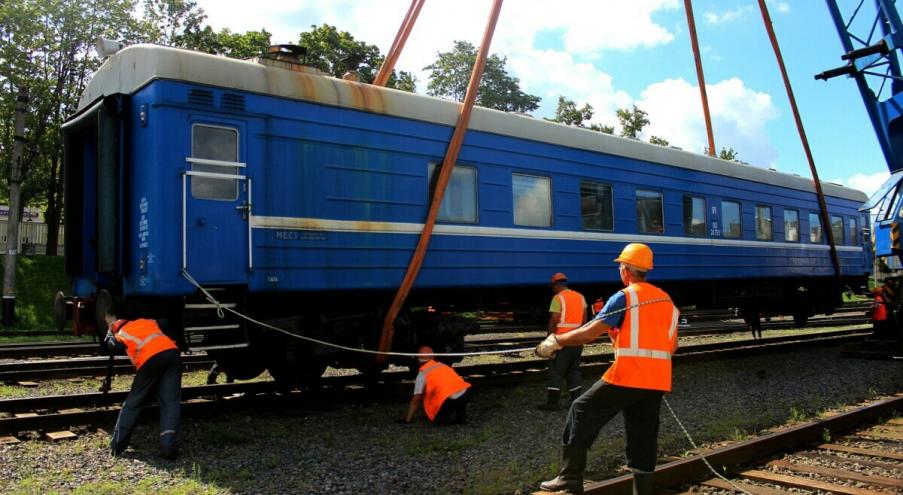
MULTIPOLYGON (((239 0, 198 0, 198 5, 217 30, 266 28, 273 33, 275 43, 290 43, 297 41, 298 34, 309 25, 325 22, 386 53, 410 2, 299 0, 286 4, 257 0, 254 8, 248 9, 247 2, 239 0)), ((678 0, 559 0, 554 5, 544 0, 507 2, 495 30, 492 52, 529 58, 537 33, 543 31, 560 31, 563 49, 577 58, 598 56, 606 50, 666 44, 674 36, 652 15, 679 7, 678 0)), ((437 52, 451 49, 455 40, 479 45, 489 8, 490 2, 484 0, 426 2, 397 67, 417 73, 435 60, 437 52)))

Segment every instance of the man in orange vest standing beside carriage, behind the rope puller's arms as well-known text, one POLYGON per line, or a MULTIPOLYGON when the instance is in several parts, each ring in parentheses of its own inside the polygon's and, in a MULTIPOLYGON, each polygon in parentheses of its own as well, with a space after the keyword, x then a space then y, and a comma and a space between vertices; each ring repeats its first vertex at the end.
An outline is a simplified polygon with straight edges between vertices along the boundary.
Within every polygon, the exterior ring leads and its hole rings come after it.
MULTIPOLYGON (((549 335, 564 335, 586 322, 586 299, 579 292, 568 288, 567 275, 552 275, 552 304, 549 306, 549 335)), ((568 347, 556 352, 549 363, 549 381, 546 387, 546 403, 538 407, 544 411, 557 411, 561 398, 561 384, 567 381, 568 393, 573 402, 583 391, 580 375, 580 356, 583 346, 568 347)))

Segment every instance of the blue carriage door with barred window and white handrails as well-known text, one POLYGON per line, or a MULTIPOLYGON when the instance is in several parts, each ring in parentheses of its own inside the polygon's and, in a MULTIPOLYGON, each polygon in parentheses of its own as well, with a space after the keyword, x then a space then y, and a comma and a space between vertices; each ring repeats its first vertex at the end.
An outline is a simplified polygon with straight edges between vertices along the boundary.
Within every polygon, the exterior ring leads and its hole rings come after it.
POLYGON ((200 283, 244 284, 251 267, 250 179, 239 130, 194 124, 182 177, 182 266, 200 283))

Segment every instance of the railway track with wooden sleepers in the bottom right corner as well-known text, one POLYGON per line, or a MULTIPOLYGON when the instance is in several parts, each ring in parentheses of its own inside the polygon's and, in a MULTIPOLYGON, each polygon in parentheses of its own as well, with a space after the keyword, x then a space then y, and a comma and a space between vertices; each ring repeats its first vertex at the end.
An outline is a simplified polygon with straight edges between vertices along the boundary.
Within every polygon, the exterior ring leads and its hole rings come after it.
MULTIPOLYGON (((656 493, 901 493, 903 419, 886 419, 900 412, 903 394, 752 440, 693 452, 656 467, 656 493), (727 470, 727 479, 713 475, 709 466, 727 470)), ((584 493, 626 495, 631 483, 631 475, 619 476, 589 483, 584 493)))

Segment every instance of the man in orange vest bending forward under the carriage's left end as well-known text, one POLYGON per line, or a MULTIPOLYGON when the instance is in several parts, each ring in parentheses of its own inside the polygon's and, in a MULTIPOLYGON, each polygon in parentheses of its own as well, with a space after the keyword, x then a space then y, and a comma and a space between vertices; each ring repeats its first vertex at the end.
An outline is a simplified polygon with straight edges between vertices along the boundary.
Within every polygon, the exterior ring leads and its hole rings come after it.
POLYGON ((153 394, 160 405, 160 453, 173 459, 179 453, 177 434, 182 402, 182 359, 175 342, 163 334, 154 320, 120 320, 107 314, 110 350, 125 350, 137 373, 122 404, 110 450, 119 455, 129 446, 138 414, 153 394))

